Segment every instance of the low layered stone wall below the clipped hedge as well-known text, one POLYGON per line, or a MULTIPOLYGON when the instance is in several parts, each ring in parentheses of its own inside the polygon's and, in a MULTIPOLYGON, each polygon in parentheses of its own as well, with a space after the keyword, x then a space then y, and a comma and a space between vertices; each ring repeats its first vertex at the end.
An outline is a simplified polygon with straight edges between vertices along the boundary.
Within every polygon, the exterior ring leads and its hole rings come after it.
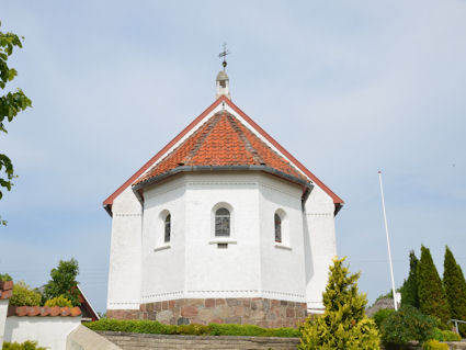
POLYGON ((99 331, 98 334, 123 350, 296 350, 299 343, 298 338, 167 336, 116 331, 99 331))

